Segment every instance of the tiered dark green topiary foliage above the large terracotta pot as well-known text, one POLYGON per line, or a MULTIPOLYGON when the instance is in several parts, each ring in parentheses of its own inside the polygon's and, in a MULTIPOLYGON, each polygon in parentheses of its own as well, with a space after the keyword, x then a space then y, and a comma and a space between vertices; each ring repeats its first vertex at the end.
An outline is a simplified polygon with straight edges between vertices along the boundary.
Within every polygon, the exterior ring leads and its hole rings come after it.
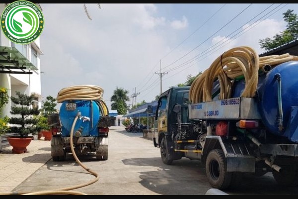
POLYGON ((11 101, 15 104, 11 107, 10 113, 19 115, 19 117, 9 118, 11 127, 9 132, 19 134, 21 138, 28 137, 28 134, 35 135, 41 129, 36 126, 38 119, 33 118, 33 115, 38 115, 40 110, 38 107, 31 108, 33 97, 20 92, 15 92, 17 97, 10 97, 11 101))

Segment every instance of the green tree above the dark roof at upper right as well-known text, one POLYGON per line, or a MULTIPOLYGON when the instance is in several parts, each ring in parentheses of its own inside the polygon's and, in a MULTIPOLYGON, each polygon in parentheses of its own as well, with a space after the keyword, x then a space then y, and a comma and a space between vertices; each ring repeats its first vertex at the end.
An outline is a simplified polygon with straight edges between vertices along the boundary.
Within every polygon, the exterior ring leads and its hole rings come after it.
POLYGON ((261 48, 271 50, 298 38, 298 17, 293 11, 293 9, 288 9, 283 13, 284 21, 288 23, 286 30, 274 35, 273 39, 269 37, 260 39, 259 43, 261 48))

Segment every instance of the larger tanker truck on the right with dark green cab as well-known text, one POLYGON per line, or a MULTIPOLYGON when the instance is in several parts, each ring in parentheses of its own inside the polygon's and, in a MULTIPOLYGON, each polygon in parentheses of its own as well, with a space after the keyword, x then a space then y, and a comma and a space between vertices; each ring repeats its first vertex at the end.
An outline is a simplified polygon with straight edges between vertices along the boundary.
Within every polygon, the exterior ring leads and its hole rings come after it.
POLYGON ((244 173, 267 172, 282 186, 298 186, 298 59, 239 51, 225 52, 233 58, 220 56, 190 87, 160 95, 153 144, 164 164, 200 160, 216 189, 236 187, 244 173), (248 64, 233 72, 239 60, 248 64))

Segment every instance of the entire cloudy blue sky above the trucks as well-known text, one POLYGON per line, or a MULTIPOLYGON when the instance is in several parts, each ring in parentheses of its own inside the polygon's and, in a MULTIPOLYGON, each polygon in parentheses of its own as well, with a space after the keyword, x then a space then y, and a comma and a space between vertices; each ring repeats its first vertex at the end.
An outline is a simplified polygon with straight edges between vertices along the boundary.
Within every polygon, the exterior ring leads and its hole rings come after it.
POLYGON ((137 102, 154 100, 160 94, 155 74, 160 63, 161 73, 168 73, 162 76, 164 92, 206 70, 228 49, 250 46, 258 54, 265 52, 259 39, 286 28, 282 13, 298 13, 298 3, 85 5, 92 20, 83 3, 41 3, 42 96, 57 97, 69 86, 97 85, 109 108, 116 87, 129 96, 137 88, 137 102))

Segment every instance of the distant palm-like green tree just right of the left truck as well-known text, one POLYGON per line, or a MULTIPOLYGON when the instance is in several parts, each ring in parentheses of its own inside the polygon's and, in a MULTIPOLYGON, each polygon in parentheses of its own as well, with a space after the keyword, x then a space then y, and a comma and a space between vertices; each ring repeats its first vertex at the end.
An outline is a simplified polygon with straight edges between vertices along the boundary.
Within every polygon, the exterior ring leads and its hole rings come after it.
POLYGON ((127 113, 126 101, 129 100, 127 96, 128 93, 129 92, 123 88, 116 87, 116 90, 114 90, 113 96, 111 97, 111 107, 113 110, 117 110, 118 114, 127 113))

